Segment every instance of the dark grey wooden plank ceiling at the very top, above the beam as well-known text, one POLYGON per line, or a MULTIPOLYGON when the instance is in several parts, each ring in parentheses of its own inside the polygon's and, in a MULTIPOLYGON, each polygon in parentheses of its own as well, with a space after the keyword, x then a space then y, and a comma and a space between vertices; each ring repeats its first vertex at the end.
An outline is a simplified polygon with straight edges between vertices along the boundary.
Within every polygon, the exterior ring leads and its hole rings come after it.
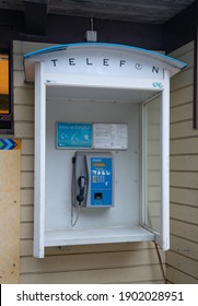
POLYGON ((47 14, 163 24, 195 0, 0 0, 0 9, 43 9, 47 14))

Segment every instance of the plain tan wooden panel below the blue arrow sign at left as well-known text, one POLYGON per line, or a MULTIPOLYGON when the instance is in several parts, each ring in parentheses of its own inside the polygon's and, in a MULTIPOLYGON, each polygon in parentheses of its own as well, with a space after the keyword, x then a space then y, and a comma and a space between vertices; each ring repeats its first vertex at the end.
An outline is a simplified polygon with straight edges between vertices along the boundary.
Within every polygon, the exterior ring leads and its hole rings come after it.
POLYGON ((19 283, 21 150, 0 150, 0 283, 19 283))

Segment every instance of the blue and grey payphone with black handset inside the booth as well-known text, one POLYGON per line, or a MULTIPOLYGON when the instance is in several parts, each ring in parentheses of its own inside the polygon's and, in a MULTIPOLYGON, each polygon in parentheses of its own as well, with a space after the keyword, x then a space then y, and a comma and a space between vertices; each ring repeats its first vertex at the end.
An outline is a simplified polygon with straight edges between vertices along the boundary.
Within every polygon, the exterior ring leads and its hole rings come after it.
POLYGON ((113 156, 109 152, 75 152, 72 205, 113 208, 113 156))

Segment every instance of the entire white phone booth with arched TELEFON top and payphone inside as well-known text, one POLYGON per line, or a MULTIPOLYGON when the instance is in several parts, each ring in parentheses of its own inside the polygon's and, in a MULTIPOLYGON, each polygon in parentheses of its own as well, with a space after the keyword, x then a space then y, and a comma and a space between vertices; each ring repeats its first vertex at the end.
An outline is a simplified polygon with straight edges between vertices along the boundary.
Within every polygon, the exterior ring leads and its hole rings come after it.
POLYGON ((143 240, 168 249, 170 78, 186 64, 101 43, 37 50, 24 64, 35 80, 34 256, 143 240), (106 203, 102 187, 90 200, 94 183, 110 186, 106 203))

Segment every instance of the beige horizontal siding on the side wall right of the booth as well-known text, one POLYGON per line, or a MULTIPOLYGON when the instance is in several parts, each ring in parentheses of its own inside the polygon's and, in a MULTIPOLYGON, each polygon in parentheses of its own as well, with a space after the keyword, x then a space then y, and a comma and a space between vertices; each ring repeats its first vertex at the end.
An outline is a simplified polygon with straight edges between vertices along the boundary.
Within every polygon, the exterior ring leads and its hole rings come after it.
POLYGON ((194 44, 171 56, 188 67, 171 81, 171 250, 167 280, 198 283, 198 130, 193 129, 194 44))

